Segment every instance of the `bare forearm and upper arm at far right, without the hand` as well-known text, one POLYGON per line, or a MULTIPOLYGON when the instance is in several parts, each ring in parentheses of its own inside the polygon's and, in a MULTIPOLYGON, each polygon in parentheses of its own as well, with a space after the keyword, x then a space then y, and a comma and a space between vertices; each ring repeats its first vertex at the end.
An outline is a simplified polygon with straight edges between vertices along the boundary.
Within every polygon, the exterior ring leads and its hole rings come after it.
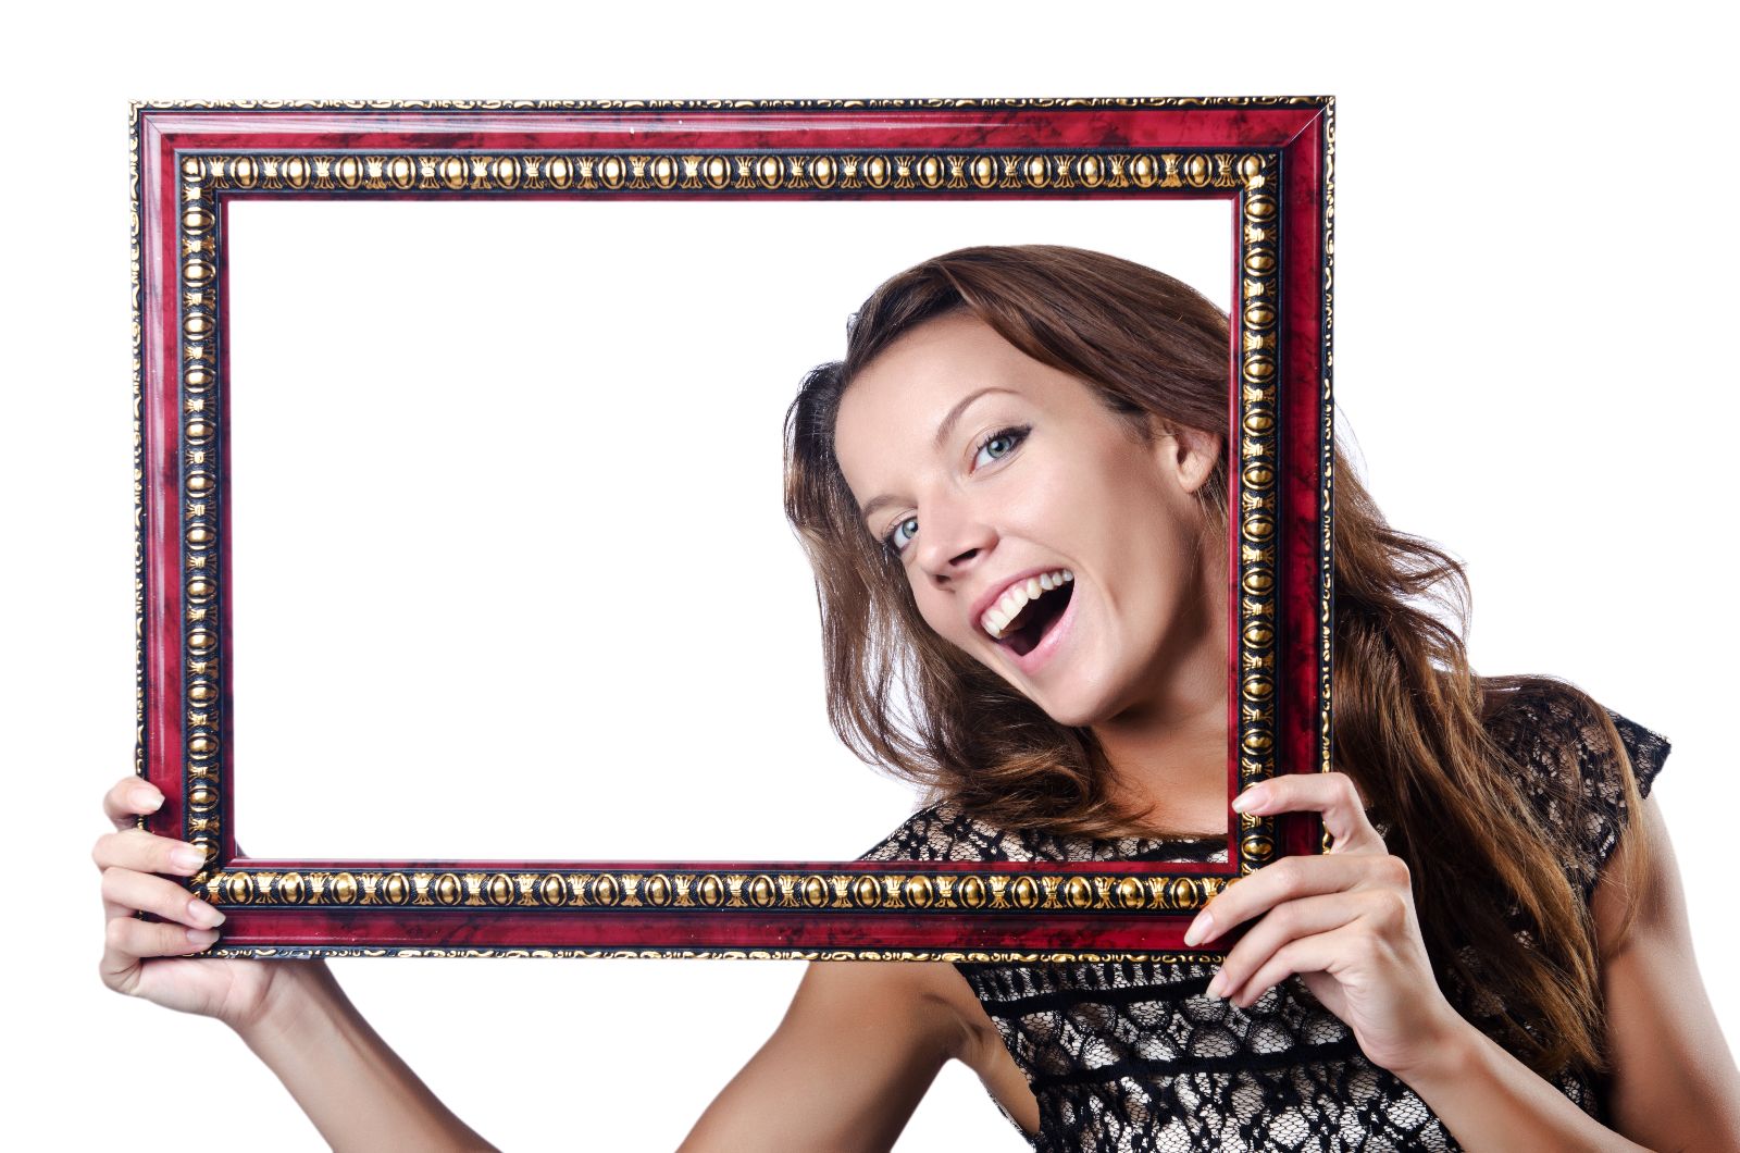
POLYGON ((1620 874, 1625 853, 1615 853, 1603 869, 1592 909, 1604 960, 1603 1000, 1613 1054, 1608 1092, 1618 1132, 1597 1125, 1462 1021, 1436 1061, 1395 1075, 1465 1148, 1740 1151, 1740 1073, 1691 953, 1667 826, 1655 799, 1646 799, 1643 812, 1650 836, 1646 873, 1620 874), (1616 942, 1630 900, 1637 904, 1636 921, 1616 942))

